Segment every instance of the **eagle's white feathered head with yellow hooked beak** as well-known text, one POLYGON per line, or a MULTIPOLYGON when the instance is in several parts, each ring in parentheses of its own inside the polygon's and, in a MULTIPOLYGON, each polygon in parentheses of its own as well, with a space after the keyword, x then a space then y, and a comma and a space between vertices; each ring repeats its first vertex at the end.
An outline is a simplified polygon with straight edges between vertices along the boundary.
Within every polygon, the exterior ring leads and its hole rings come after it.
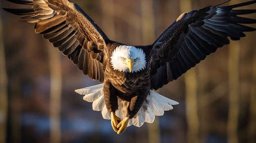
POLYGON ((136 73, 146 68, 146 55, 141 48, 117 46, 110 57, 114 70, 136 73))

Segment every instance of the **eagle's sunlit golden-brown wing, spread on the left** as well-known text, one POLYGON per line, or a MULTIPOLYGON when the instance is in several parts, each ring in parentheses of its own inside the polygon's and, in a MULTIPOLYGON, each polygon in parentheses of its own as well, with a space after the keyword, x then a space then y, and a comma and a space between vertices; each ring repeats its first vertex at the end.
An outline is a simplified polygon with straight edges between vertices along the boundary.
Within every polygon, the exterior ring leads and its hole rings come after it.
POLYGON ((35 32, 72 60, 91 79, 103 81, 108 37, 79 7, 68 0, 8 0, 28 4, 27 9, 4 9, 26 15, 20 21, 36 23, 35 32))

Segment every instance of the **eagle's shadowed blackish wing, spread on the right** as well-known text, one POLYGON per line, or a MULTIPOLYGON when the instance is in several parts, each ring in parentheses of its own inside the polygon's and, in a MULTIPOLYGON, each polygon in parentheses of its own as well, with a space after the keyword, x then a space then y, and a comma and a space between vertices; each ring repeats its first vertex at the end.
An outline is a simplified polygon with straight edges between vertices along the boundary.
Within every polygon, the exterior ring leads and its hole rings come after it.
POLYGON ((240 40, 245 31, 255 28, 242 24, 256 23, 255 19, 238 15, 256 13, 256 9, 234 10, 256 3, 256 0, 218 7, 205 7, 180 15, 153 43, 150 59, 151 88, 157 90, 180 77, 218 47, 240 40))

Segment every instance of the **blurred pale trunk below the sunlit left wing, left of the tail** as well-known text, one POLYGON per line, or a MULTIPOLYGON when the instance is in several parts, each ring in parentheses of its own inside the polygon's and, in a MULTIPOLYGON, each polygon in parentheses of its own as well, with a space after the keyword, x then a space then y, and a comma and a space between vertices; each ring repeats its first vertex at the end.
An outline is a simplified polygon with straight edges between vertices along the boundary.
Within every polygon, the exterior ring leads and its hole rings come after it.
POLYGON ((50 86, 50 143, 61 143, 61 55, 47 42, 50 86))

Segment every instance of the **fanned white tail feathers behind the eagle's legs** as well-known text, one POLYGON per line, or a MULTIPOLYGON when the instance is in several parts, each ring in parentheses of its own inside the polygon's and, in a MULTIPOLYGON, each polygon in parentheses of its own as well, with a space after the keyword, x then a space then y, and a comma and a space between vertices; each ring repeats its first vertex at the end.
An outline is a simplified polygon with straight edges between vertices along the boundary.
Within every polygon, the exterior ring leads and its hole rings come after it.
MULTIPOLYGON (((111 119, 110 113, 105 104, 103 84, 90 86, 87 88, 81 88, 75 90, 75 92, 84 95, 83 99, 88 102, 92 102, 92 109, 95 111, 101 111, 103 119, 111 119)), ((146 101, 142 104, 137 114, 130 119, 127 126, 135 125, 141 127, 146 123, 153 123, 155 116, 164 115, 164 111, 172 110, 172 105, 179 104, 177 101, 164 97, 153 90, 150 90, 146 101)), ((126 118, 127 108, 129 106, 128 101, 118 100, 118 110, 116 111, 117 117, 121 120, 126 118)))

